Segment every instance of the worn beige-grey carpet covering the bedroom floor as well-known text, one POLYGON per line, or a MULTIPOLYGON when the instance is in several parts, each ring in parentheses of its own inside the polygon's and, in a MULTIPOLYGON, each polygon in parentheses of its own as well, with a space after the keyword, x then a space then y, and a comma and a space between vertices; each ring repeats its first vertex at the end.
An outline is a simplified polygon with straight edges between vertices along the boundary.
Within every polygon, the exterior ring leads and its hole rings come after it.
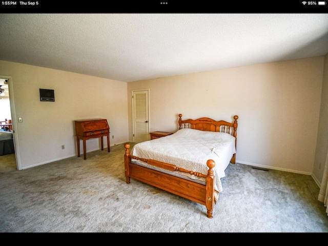
POLYGON ((17 171, 0 156, 0 232, 328 232, 311 176, 229 165, 213 211, 124 176, 124 146, 17 171))

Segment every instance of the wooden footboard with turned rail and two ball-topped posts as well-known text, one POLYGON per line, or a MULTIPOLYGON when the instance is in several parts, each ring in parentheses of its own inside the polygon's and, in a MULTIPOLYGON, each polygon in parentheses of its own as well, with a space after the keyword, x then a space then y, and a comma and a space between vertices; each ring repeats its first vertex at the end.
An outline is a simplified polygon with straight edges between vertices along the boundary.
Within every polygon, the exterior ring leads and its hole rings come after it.
POLYGON ((148 185, 157 187, 159 189, 165 190, 183 198, 203 204, 207 208, 207 217, 212 218, 214 204, 216 202, 216 191, 214 190, 215 178, 213 171, 213 168, 215 167, 214 160, 210 159, 207 161, 207 166, 209 167, 209 170, 208 174, 205 175, 186 169, 181 169, 170 163, 132 156, 130 155, 129 151, 130 144, 127 143, 124 147, 126 149, 124 156, 124 165, 127 183, 130 183, 130 178, 134 178, 141 182, 148 183, 148 185), (149 165, 163 168, 168 171, 179 171, 189 173, 197 177, 204 177, 206 178, 206 185, 201 185, 200 183, 196 183, 187 179, 179 178, 146 167, 138 166, 134 164, 131 159, 141 160, 147 162, 149 165))

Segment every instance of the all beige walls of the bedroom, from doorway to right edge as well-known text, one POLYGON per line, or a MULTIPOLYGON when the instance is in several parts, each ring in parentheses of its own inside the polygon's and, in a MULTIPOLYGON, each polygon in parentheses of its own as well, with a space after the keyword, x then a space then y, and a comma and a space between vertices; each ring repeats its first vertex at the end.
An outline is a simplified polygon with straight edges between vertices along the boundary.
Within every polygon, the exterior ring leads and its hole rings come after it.
MULTIPOLYGON (((327 59, 320 56, 132 83, 0 61, 0 77, 12 80, 14 122, 23 117, 22 123, 14 125, 23 169, 75 156, 75 119, 107 118, 115 136, 111 146, 132 140, 131 90, 149 88, 151 131, 177 131, 179 113, 183 118, 226 120, 236 114, 237 162, 313 173, 321 182, 323 167, 319 169, 318 162, 325 161, 328 148, 324 128, 327 59), (54 89, 56 101, 40 102, 39 88, 54 89)), ((98 139, 88 140, 88 152, 98 148, 98 139)))

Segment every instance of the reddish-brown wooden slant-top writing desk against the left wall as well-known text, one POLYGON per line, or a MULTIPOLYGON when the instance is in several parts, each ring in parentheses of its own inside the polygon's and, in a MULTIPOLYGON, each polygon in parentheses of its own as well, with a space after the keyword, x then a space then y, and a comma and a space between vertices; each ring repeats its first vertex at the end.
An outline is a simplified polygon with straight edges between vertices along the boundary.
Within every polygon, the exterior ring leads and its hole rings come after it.
POLYGON ((100 137, 101 150, 104 150, 104 136, 107 136, 107 148, 109 148, 109 125, 107 119, 74 120, 77 143, 77 157, 80 157, 80 139, 83 140, 83 155, 87 159, 86 140, 100 137))

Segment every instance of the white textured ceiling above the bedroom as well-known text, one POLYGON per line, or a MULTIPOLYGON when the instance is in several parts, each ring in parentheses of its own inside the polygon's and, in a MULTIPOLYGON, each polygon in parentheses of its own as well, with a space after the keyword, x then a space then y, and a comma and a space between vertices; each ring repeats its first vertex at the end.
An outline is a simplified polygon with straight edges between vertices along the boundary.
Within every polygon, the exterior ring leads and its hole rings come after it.
POLYGON ((136 81, 326 55, 328 14, 0 14, 0 60, 136 81))

